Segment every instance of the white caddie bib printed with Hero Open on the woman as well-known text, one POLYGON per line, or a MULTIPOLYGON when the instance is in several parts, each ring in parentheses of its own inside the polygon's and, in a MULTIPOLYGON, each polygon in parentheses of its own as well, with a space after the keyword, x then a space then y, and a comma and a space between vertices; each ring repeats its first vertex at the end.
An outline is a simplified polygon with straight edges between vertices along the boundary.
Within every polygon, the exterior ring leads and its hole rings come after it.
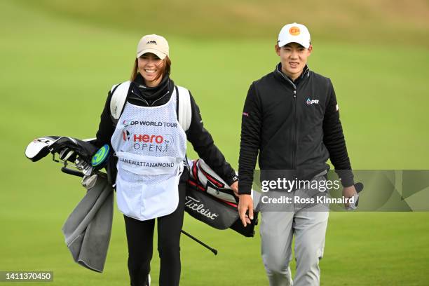
POLYGON ((158 107, 125 103, 111 146, 118 157, 119 210, 139 220, 174 212, 184 170, 186 134, 177 121, 176 89, 158 107))

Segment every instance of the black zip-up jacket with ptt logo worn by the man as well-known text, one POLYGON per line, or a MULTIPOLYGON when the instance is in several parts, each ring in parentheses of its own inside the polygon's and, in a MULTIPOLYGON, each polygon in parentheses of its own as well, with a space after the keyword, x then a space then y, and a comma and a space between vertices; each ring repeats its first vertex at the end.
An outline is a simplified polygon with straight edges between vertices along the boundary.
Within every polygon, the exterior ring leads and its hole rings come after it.
MULTIPOLYGON (((311 179, 329 169, 330 158, 343 186, 353 185, 346 142, 334 88, 310 71, 292 81, 281 71, 254 81, 243 109, 239 158, 239 192, 250 193, 259 153, 262 170, 295 170, 311 179)), ((294 179, 294 178, 292 178, 294 179)))

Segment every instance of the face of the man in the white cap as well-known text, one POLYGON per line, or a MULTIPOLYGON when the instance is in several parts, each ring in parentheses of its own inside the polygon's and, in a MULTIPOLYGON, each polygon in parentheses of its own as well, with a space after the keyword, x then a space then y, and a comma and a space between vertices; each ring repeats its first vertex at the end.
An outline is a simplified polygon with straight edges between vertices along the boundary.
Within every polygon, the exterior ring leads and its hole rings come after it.
POLYGON ((297 79, 302 74, 312 50, 313 46, 304 48, 299 43, 287 43, 281 48, 275 45, 275 53, 280 56, 282 71, 292 80, 297 79))

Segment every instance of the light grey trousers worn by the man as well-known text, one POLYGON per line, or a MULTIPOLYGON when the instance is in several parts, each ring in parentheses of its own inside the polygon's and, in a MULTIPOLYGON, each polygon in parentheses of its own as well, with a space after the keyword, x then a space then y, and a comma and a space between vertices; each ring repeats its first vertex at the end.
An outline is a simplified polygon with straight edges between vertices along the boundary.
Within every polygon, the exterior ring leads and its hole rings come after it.
POLYGON ((325 247, 329 212, 310 208, 261 211, 261 254, 271 286, 320 285, 319 260, 325 247), (297 273, 292 282, 292 238, 297 273))

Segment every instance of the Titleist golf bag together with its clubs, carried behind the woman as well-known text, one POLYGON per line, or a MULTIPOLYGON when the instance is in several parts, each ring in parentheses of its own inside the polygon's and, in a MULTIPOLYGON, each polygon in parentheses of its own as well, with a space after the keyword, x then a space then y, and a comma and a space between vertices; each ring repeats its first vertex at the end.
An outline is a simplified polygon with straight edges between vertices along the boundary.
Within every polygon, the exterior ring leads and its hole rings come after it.
MULTIPOLYGON (((94 164, 94 154, 99 154, 91 144, 93 139, 79 140, 71 137, 46 136, 34 139, 25 150, 25 156, 36 162, 49 153, 59 154, 64 161, 62 172, 83 177, 83 186, 93 186, 96 180, 94 171, 109 165, 113 160, 104 158, 104 164, 94 164), (77 160, 76 160, 77 159, 77 160), (75 163, 75 165, 73 165, 75 163), (67 168, 68 165, 78 170, 67 168)), ((258 222, 258 212, 254 211, 251 224, 243 226, 238 214, 238 198, 232 189, 202 159, 190 161, 191 176, 187 181, 185 210, 191 217, 204 222, 215 229, 233 229, 243 236, 253 237, 254 226, 258 222)), ((107 177, 111 182, 111 172, 107 168, 107 177)), ((252 193, 254 208, 259 202, 259 193, 252 193)))

